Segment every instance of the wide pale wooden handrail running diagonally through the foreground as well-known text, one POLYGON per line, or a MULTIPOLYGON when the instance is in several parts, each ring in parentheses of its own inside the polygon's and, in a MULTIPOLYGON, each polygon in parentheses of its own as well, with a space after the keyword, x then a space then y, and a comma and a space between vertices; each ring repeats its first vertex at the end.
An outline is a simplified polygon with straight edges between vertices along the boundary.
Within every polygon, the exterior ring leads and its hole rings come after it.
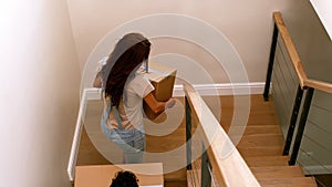
POLYGON ((220 126, 201 96, 190 84, 184 90, 193 115, 198 120, 200 137, 207 148, 212 169, 222 186, 260 187, 248 165, 220 126))

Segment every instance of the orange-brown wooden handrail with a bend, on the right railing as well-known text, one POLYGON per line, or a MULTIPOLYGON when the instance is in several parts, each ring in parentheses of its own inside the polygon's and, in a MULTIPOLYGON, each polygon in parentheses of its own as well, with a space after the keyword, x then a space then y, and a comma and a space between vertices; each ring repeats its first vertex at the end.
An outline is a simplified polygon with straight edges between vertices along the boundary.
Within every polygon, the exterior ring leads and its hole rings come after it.
POLYGON ((278 27, 278 30, 280 32, 280 35, 284 43, 287 52, 290 56, 290 60, 293 64, 293 67, 295 70, 295 73, 298 75, 298 79, 299 79, 302 90, 304 90, 307 87, 313 87, 313 89, 317 89, 320 91, 332 93, 332 83, 308 79, 307 73, 303 69, 302 62, 300 60, 300 56, 297 52, 295 45, 289 34, 289 31, 288 31, 284 22, 283 22, 281 13, 273 12, 273 19, 274 19, 276 25, 278 27))

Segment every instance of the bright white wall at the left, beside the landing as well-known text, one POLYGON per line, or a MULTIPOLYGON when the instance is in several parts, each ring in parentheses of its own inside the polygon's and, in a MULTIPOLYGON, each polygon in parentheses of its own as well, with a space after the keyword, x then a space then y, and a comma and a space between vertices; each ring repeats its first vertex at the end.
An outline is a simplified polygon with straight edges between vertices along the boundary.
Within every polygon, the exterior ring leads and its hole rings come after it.
POLYGON ((0 186, 70 186, 80 69, 65 0, 0 1, 0 186))

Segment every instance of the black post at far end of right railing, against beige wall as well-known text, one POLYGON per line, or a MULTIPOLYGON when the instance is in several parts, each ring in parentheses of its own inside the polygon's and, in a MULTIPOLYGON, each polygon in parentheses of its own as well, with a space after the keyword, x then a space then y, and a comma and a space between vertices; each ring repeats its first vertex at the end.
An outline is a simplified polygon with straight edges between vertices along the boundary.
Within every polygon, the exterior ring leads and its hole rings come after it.
POLYGON ((269 101, 269 92, 270 92, 271 76, 272 76, 272 70, 273 70, 273 63, 274 63, 274 56, 276 56, 278 33, 279 33, 278 27, 274 23, 272 44, 271 44, 270 58, 269 58, 269 65, 268 65, 268 71, 267 71, 267 80, 266 80, 266 86, 264 86, 264 92, 263 92, 264 101, 269 101))

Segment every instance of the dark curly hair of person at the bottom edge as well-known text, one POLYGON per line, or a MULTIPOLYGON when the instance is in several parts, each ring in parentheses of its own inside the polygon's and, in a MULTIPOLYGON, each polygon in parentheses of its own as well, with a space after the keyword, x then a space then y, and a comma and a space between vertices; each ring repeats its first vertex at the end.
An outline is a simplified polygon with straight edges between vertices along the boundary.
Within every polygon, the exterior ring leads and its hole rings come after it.
POLYGON ((110 187, 138 187, 138 179, 132 172, 121 170, 112 179, 110 187))

